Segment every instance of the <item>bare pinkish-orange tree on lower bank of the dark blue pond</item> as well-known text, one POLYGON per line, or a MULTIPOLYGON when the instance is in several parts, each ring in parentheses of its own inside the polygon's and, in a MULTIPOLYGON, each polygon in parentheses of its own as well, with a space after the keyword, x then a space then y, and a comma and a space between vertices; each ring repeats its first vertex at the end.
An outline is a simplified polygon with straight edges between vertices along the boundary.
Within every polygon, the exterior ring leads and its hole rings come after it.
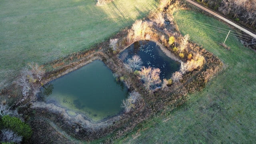
POLYGON ((151 68, 148 67, 146 68, 145 66, 143 66, 140 69, 140 79, 144 81, 144 86, 146 88, 146 90, 150 91, 152 90, 152 87, 160 84, 161 80, 160 80, 160 69, 159 68, 151 68))

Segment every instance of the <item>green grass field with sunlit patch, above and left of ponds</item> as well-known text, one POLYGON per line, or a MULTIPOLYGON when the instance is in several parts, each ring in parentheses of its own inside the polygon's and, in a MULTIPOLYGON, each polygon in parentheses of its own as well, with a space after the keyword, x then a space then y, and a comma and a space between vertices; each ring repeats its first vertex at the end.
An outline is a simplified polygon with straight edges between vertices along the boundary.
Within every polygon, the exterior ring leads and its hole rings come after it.
POLYGON ((157 0, 1 0, 0 88, 28 62, 44 64, 107 40, 145 17, 157 0))

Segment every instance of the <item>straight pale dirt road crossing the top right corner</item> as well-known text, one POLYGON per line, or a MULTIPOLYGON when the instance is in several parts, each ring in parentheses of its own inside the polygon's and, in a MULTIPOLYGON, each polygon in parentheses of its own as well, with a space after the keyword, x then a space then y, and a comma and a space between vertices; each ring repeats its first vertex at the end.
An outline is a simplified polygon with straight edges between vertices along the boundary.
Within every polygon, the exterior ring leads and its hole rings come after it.
POLYGON ((190 4, 193 4, 195 6, 197 6, 198 8, 201 8, 202 10, 205 10, 206 12, 209 12, 210 14, 216 16, 217 18, 220 18, 221 20, 224 20, 225 22, 231 24, 232 26, 235 26, 236 28, 242 30, 243 32, 245 32, 246 34, 249 34, 250 36, 254 37, 256 39, 256 34, 253 34, 252 32, 246 30, 245 28, 242 28, 241 26, 238 26, 237 24, 235 24, 234 22, 231 22, 230 20, 216 14, 215 12, 212 12, 211 10, 201 6, 200 4, 197 4, 196 2, 193 2, 191 0, 186 0, 187 2, 189 2, 190 4))

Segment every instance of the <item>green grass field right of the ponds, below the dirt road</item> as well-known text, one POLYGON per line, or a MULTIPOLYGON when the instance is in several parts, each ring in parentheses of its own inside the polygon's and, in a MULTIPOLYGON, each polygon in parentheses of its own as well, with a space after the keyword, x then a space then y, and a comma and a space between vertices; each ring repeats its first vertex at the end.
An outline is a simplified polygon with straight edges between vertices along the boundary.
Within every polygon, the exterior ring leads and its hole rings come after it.
POLYGON ((228 28, 214 18, 189 10, 174 13, 179 30, 224 62, 224 69, 201 92, 166 115, 156 115, 114 143, 252 144, 256 142, 256 52, 205 24, 228 28), (195 21, 203 24, 196 24, 195 21))

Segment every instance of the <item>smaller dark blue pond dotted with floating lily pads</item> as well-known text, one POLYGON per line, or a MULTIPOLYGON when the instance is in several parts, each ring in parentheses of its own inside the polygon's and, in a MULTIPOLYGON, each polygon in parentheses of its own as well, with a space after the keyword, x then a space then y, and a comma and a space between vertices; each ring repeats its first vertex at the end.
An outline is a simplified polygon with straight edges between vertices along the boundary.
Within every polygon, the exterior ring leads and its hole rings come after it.
POLYGON ((170 57, 166 56, 155 42, 148 40, 134 42, 121 52, 119 58, 123 60, 123 62, 127 62, 127 60, 132 58, 135 54, 140 56, 143 61, 143 66, 159 68, 161 70, 161 80, 164 78, 170 79, 172 73, 180 69, 180 62, 172 60, 170 57))

